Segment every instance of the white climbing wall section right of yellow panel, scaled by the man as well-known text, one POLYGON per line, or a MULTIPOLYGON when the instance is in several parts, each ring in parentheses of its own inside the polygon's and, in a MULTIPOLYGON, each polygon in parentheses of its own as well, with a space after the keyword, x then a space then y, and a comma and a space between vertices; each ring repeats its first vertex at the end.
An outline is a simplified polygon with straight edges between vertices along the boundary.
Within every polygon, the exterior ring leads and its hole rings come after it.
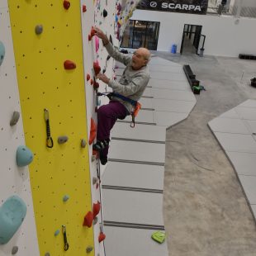
MULTIPOLYGON (((93 2, 81 1, 81 4, 83 6, 83 66, 84 73, 87 77, 85 84, 87 115, 88 120, 92 118, 92 120, 97 123, 95 109, 108 102, 107 97, 97 97, 97 92, 110 92, 111 88, 108 88, 105 83, 101 83, 95 79, 93 63, 97 62, 101 67, 101 72, 105 73, 107 77, 115 78, 115 61, 112 58, 108 58, 107 50, 105 50, 105 47, 102 45, 102 40, 99 40, 97 36, 92 36, 92 26, 99 27, 102 31, 106 32, 108 37, 111 36, 113 44, 118 47, 121 25, 125 26, 125 22, 121 20, 124 19, 126 22, 128 21, 127 17, 131 15, 130 9, 135 6, 135 3, 128 1, 126 6, 123 1, 95 0, 93 2), (90 12, 90 10, 93 10, 93 12, 90 12)), ((91 123, 88 122, 88 136, 90 130, 91 123)), ((89 146, 89 155, 92 177, 92 202, 96 204, 97 201, 100 201, 101 206, 103 206, 101 178, 106 166, 102 166, 99 164, 99 161, 95 159, 92 153, 92 145, 89 146)), ((95 255, 103 255, 105 250, 104 241, 103 243, 98 243, 99 235, 101 233, 104 234, 103 214, 101 207, 101 214, 97 216, 97 220, 94 221, 95 255)))

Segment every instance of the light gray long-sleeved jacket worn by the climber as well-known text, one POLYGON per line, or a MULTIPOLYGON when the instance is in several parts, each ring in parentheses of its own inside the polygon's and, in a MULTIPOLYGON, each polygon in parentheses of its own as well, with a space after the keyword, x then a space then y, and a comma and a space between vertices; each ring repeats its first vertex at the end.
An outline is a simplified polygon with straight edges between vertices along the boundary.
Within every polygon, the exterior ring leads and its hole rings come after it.
MULTIPOLYGON (((126 65, 119 82, 110 79, 108 86, 113 89, 113 92, 129 97, 134 101, 139 101, 149 83, 149 67, 144 66, 139 70, 134 70, 131 68, 132 57, 130 55, 122 54, 111 43, 108 43, 105 47, 111 57, 126 65)), ((133 107, 129 102, 124 102, 118 97, 113 97, 113 99, 124 104, 130 113, 133 111, 133 107)))

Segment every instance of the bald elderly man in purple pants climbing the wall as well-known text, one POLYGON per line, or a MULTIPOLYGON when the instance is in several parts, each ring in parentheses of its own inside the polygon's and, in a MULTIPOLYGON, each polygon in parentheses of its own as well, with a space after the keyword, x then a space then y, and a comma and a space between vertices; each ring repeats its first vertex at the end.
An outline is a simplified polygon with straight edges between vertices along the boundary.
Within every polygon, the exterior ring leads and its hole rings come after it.
POLYGON ((107 105, 102 105, 97 111, 97 143, 93 149, 100 152, 101 163, 107 164, 108 145, 110 141, 110 131, 117 119, 125 119, 133 114, 136 102, 140 99, 147 84, 149 83, 150 52, 146 48, 135 50, 132 56, 119 52, 108 40, 105 33, 94 27, 96 36, 102 39, 107 52, 116 61, 126 65, 126 69, 119 82, 107 78, 104 73, 98 73, 97 78, 112 88, 113 95, 107 105))

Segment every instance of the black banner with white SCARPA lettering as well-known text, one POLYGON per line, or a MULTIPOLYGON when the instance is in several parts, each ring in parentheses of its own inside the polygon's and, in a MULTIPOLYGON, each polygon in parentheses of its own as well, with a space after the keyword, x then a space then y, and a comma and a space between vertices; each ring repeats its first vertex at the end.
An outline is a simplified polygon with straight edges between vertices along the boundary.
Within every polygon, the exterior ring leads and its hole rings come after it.
POLYGON ((141 0, 137 8, 163 12, 206 14, 208 0, 141 0))

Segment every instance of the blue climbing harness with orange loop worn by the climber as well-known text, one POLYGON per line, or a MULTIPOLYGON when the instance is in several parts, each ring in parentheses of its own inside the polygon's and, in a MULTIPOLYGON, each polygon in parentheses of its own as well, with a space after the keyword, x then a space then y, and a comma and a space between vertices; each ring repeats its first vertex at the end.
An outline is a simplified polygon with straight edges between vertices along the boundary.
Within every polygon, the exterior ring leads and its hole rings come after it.
POLYGON ((135 127, 135 116, 138 115, 141 104, 140 102, 136 102, 129 97, 125 97, 121 94, 118 94, 116 92, 97 92, 97 96, 107 96, 110 100, 112 100, 113 97, 119 97, 122 101, 124 102, 129 102, 131 106, 133 107, 133 110, 131 112, 131 122, 130 122, 130 127, 134 128, 135 127))

